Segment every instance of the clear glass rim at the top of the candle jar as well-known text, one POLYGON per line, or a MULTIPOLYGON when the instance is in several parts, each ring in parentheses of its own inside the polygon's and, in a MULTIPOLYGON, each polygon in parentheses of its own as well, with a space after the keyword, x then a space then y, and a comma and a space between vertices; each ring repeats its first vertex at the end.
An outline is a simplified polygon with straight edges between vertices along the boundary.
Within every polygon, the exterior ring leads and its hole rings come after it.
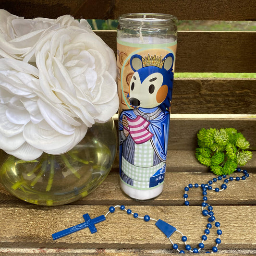
POLYGON ((165 13, 125 13, 119 19, 119 23, 125 24, 141 24, 142 26, 156 26, 156 25, 176 25, 178 20, 176 16, 165 13))

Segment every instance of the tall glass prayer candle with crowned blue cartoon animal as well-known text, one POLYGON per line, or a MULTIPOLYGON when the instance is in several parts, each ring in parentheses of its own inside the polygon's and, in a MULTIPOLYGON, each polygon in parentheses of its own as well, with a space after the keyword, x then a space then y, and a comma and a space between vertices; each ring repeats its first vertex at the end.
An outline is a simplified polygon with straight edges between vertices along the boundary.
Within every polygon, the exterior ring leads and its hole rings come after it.
POLYGON ((177 19, 129 13, 119 18, 117 77, 120 181, 136 200, 157 197, 166 171, 177 19))

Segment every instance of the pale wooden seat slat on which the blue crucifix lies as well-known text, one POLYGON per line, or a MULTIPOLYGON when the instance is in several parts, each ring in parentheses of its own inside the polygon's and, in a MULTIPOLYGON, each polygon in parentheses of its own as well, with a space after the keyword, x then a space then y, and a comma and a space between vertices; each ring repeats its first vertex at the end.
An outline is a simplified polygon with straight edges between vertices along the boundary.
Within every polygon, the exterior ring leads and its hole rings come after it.
MULTIPOLYGON (((126 206, 139 216, 148 214, 175 226, 188 237, 188 243, 196 247, 207 224, 201 207, 195 206, 126 206)), ((83 222, 83 214, 91 218, 108 212, 108 206, 1 206, 1 247, 47 247, 47 248, 129 248, 169 249, 171 243, 158 230, 155 222, 134 219, 124 211, 116 209, 106 220, 96 224, 98 232, 89 229, 75 232, 56 241, 51 234, 83 222)), ((215 206, 214 216, 221 223, 221 249, 256 249, 256 206, 215 206), (245 218, 246 217, 246 218, 245 218)), ((205 249, 215 245, 213 227, 205 242, 205 249), (211 238, 213 237, 213 238, 211 238)), ((171 239, 180 248, 181 234, 175 232, 171 239)))

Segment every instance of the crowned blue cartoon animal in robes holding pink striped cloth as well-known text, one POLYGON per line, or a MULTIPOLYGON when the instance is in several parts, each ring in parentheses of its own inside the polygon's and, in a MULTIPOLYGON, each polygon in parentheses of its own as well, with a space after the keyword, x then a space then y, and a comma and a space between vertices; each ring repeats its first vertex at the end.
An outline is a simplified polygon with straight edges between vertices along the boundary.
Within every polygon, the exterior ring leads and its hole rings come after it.
POLYGON ((153 188, 164 180, 170 122, 174 55, 163 59, 133 55, 134 75, 127 98, 132 110, 119 117, 120 177, 136 189, 153 188))

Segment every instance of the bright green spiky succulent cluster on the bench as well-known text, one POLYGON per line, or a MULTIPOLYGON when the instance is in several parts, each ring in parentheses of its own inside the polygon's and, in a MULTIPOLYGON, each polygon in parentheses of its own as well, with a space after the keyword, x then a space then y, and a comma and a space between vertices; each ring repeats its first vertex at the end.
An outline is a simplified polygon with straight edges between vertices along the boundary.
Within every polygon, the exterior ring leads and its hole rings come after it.
POLYGON ((217 175, 231 174, 253 156, 246 150, 250 143, 234 128, 202 128, 197 138, 199 147, 195 150, 195 157, 217 175))

